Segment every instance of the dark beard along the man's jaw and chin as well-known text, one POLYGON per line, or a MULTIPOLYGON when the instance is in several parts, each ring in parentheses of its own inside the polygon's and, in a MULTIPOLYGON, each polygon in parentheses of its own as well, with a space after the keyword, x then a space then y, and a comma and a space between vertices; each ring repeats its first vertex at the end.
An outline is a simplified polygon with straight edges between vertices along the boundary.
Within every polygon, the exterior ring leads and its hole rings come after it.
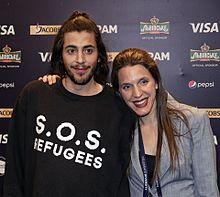
POLYGON ((74 77, 74 74, 71 73, 70 69, 65 67, 65 70, 66 70, 66 75, 70 78, 70 80, 74 84, 76 84, 76 85, 86 85, 94 77, 94 73, 95 73, 96 67, 97 66, 92 67, 92 69, 90 70, 89 75, 86 78, 84 78, 84 79, 76 79, 74 77))

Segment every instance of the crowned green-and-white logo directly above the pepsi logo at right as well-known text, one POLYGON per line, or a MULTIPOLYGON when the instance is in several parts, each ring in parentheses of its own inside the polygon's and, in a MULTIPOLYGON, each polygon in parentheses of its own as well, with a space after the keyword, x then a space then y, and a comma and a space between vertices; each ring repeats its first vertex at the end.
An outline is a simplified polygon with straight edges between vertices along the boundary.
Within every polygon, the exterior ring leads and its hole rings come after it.
POLYGON ((204 43, 200 50, 190 49, 190 61, 191 62, 209 62, 209 61, 220 61, 220 49, 210 50, 210 46, 204 43))

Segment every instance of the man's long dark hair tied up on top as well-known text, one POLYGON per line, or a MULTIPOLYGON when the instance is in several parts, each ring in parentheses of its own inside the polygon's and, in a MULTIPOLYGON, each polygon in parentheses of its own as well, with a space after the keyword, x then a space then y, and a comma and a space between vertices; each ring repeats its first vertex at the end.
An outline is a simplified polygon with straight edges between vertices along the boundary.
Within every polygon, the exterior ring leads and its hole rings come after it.
POLYGON ((55 37, 52 47, 51 68, 53 74, 65 75, 62 50, 64 44, 64 34, 67 32, 94 32, 98 49, 97 67, 94 73, 94 79, 100 84, 105 84, 108 79, 109 67, 105 45, 102 41, 101 33, 96 23, 90 19, 89 15, 83 12, 74 11, 72 15, 64 21, 58 34, 55 37))

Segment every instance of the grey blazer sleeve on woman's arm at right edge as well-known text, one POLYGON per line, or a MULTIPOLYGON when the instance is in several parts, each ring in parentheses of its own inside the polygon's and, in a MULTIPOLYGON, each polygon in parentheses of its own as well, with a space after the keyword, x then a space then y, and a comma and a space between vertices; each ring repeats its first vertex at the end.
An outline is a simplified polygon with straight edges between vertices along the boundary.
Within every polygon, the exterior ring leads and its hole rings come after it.
POLYGON ((207 113, 198 110, 192 125, 193 175, 197 197, 218 197, 216 150, 207 113))

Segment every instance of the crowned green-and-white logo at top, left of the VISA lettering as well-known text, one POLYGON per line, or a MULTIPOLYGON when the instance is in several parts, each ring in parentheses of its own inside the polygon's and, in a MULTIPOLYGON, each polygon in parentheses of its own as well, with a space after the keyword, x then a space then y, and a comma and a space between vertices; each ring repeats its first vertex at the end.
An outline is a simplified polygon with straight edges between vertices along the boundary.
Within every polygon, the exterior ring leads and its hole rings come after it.
POLYGON ((155 16, 150 22, 140 22, 140 34, 169 34, 170 22, 160 22, 155 16))

